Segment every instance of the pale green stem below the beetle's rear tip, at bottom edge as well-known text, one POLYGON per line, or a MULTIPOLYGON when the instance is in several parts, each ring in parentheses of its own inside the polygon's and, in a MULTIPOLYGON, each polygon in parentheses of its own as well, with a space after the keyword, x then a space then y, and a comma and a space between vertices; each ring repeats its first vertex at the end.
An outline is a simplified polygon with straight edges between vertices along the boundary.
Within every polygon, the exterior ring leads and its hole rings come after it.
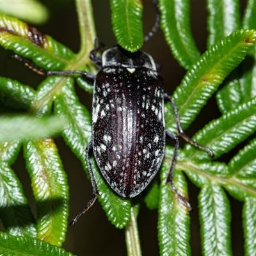
POLYGON ((137 225, 138 205, 131 207, 131 220, 125 227, 125 242, 128 256, 141 256, 140 237, 137 225))

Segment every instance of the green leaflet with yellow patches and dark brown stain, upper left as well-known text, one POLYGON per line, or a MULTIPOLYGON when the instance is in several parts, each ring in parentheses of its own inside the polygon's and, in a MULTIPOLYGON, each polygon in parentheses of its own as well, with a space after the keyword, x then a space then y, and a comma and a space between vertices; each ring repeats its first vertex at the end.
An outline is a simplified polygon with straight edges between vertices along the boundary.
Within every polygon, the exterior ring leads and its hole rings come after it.
POLYGON ((47 70, 63 70, 75 56, 51 36, 4 14, 0 14, 0 45, 47 70))

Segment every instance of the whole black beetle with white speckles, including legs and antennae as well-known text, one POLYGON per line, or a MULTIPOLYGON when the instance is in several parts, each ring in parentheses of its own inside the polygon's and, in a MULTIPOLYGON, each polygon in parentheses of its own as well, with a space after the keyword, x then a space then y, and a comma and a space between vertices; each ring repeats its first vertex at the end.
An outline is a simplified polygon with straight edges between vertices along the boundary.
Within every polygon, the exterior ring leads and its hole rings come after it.
MULTIPOLYGON (((144 42, 159 28, 160 13, 157 10, 154 27, 144 42)), ((179 138, 214 156, 211 149, 191 140, 182 130, 179 114, 172 97, 164 93, 163 78, 156 63, 146 52, 129 52, 116 45, 97 56, 99 46, 90 53, 91 60, 100 68, 95 76, 80 70, 47 71, 36 67, 22 57, 30 68, 46 76, 72 76, 81 74, 93 82, 92 141, 86 147, 86 161, 92 182, 93 196, 71 221, 78 218, 95 202, 99 191, 93 175, 90 154, 93 153, 99 170, 109 186, 123 198, 133 198, 147 188, 158 172, 164 157, 166 140, 174 141, 174 152, 167 182, 189 211, 191 206, 173 185, 173 170, 179 150, 179 138), (177 135, 165 130, 164 102, 172 104, 177 135)))

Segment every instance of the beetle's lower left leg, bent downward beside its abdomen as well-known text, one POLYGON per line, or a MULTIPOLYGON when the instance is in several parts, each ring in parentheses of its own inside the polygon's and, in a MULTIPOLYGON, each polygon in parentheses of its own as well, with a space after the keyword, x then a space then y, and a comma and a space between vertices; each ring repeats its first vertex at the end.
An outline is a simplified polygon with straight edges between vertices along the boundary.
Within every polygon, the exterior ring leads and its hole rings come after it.
POLYGON ((86 147, 85 152, 86 152, 85 156, 86 156, 88 172, 89 172, 90 179, 91 179, 91 182, 92 182, 92 199, 86 204, 86 206, 81 211, 79 211, 76 214, 75 218, 70 222, 70 225, 72 225, 73 227, 75 226, 76 221, 79 219, 79 217, 82 214, 84 214, 84 212, 88 211, 88 209, 90 209, 90 207, 92 207, 92 205, 94 204, 97 196, 99 195, 99 191, 98 191, 98 188, 97 188, 95 177, 93 175, 92 164, 91 164, 91 160, 90 160, 90 153, 92 152, 92 141, 90 141, 90 143, 86 147))

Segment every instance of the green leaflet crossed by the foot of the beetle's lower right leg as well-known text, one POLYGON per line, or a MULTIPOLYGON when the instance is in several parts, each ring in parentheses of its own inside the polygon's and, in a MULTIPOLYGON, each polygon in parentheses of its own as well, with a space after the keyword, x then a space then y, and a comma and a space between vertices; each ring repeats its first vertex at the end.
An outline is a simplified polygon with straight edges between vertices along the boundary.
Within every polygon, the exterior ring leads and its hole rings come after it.
MULTIPOLYGON (((160 254, 163 256, 190 255, 188 208, 174 195, 166 183, 170 161, 164 161, 161 168, 159 195, 158 240, 160 254)), ((173 184, 187 198, 186 179, 175 170, 173 184)))

